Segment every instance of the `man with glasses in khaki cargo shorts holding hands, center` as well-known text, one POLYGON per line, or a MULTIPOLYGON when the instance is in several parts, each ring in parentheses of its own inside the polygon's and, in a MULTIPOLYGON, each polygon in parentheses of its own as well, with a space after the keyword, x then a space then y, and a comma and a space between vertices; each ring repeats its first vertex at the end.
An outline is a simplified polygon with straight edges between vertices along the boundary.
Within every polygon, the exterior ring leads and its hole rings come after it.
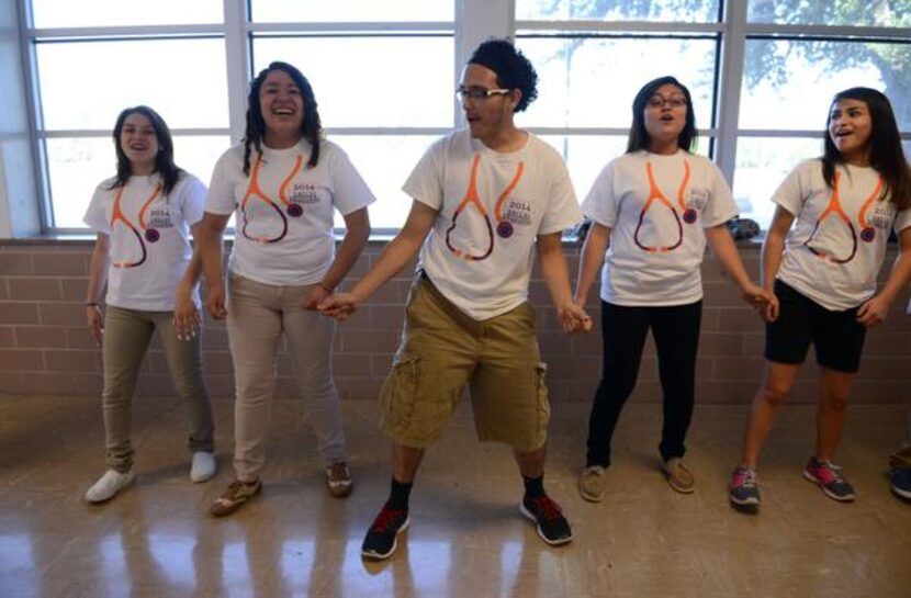
POLYGON ((561 234, 582 217, 559 154, 514 123, 537 95, 538 76, 511 44, 481 44, 457 93, 468 128, 439 139, 404 191, 407 222, 350 293, 326 298, 344 320, 420 250, 402 345, 382 390, 381 429, 393 440, 389 500, 362 554, 386 558, 408 526, 408 495, 425 450, 471 391, 481 440, 510 444, 525 479, 520 510, 551 545, 572 540, 543 488, 550 415, 528 284, 537 246, 541 274, 567 332, 592 320, 572 301, 561 234))

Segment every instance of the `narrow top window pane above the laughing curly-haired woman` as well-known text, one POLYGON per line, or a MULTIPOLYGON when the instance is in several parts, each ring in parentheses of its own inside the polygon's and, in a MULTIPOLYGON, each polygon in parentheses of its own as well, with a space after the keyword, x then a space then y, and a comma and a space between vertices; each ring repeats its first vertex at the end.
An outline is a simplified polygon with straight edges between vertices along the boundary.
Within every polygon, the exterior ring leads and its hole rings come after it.
POLYGON ((452 0, 251 0, 252 19, 266 23, 452 21, 452 0))

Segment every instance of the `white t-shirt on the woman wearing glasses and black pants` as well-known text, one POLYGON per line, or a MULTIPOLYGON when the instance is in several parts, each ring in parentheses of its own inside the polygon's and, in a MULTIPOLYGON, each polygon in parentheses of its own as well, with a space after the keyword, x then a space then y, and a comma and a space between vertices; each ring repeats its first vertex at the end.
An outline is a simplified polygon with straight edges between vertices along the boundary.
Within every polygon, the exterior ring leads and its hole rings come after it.
POLYGON ((640 150, 608 162, 582 203, 610 227, 601 300, 616 305, 686 305, 702 298, 704 228, 738 214, 717 166, 679 150, 640 150))

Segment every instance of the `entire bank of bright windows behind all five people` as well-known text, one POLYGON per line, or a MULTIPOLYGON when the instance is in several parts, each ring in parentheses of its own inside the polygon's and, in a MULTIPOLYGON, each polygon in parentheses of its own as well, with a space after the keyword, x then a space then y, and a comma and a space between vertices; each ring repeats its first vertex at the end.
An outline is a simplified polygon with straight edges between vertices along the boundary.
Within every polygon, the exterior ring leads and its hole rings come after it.
POLYGON ((18 1, 55 232, 85 229, 120 110, 158 110, 178 163, 207 181, 273 59, 311 79, 329 138, 378 196, 374 227, 394 230, 410 206, 401 185, 462 124, 459 69, 491 35, 515 36, 538 68, 540 97, 517 120, 563 153, 581 198, 625 150, 634 93, 666 74, 693 92, 698 151, 763 227, 778 182, 820 154, 835 91, 885 91, 911 148, 911 0, 18 1))

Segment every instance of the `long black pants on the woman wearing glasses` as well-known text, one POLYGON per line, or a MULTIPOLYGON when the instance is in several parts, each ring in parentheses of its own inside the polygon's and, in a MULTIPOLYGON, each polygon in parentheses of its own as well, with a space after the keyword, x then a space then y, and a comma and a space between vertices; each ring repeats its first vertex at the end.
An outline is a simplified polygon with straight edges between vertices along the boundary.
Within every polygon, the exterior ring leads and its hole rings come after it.
POLYGON ((664 460, 683 456, 693 418, 696 352, 702 302, 671 307, 625 307, 601 302, 604 370, 588 418, 586 465, 610 465, 610 440, 620 410, 636 387, 649 329, 657 349, 664 395, 664 425, 659 452, 664 460))

